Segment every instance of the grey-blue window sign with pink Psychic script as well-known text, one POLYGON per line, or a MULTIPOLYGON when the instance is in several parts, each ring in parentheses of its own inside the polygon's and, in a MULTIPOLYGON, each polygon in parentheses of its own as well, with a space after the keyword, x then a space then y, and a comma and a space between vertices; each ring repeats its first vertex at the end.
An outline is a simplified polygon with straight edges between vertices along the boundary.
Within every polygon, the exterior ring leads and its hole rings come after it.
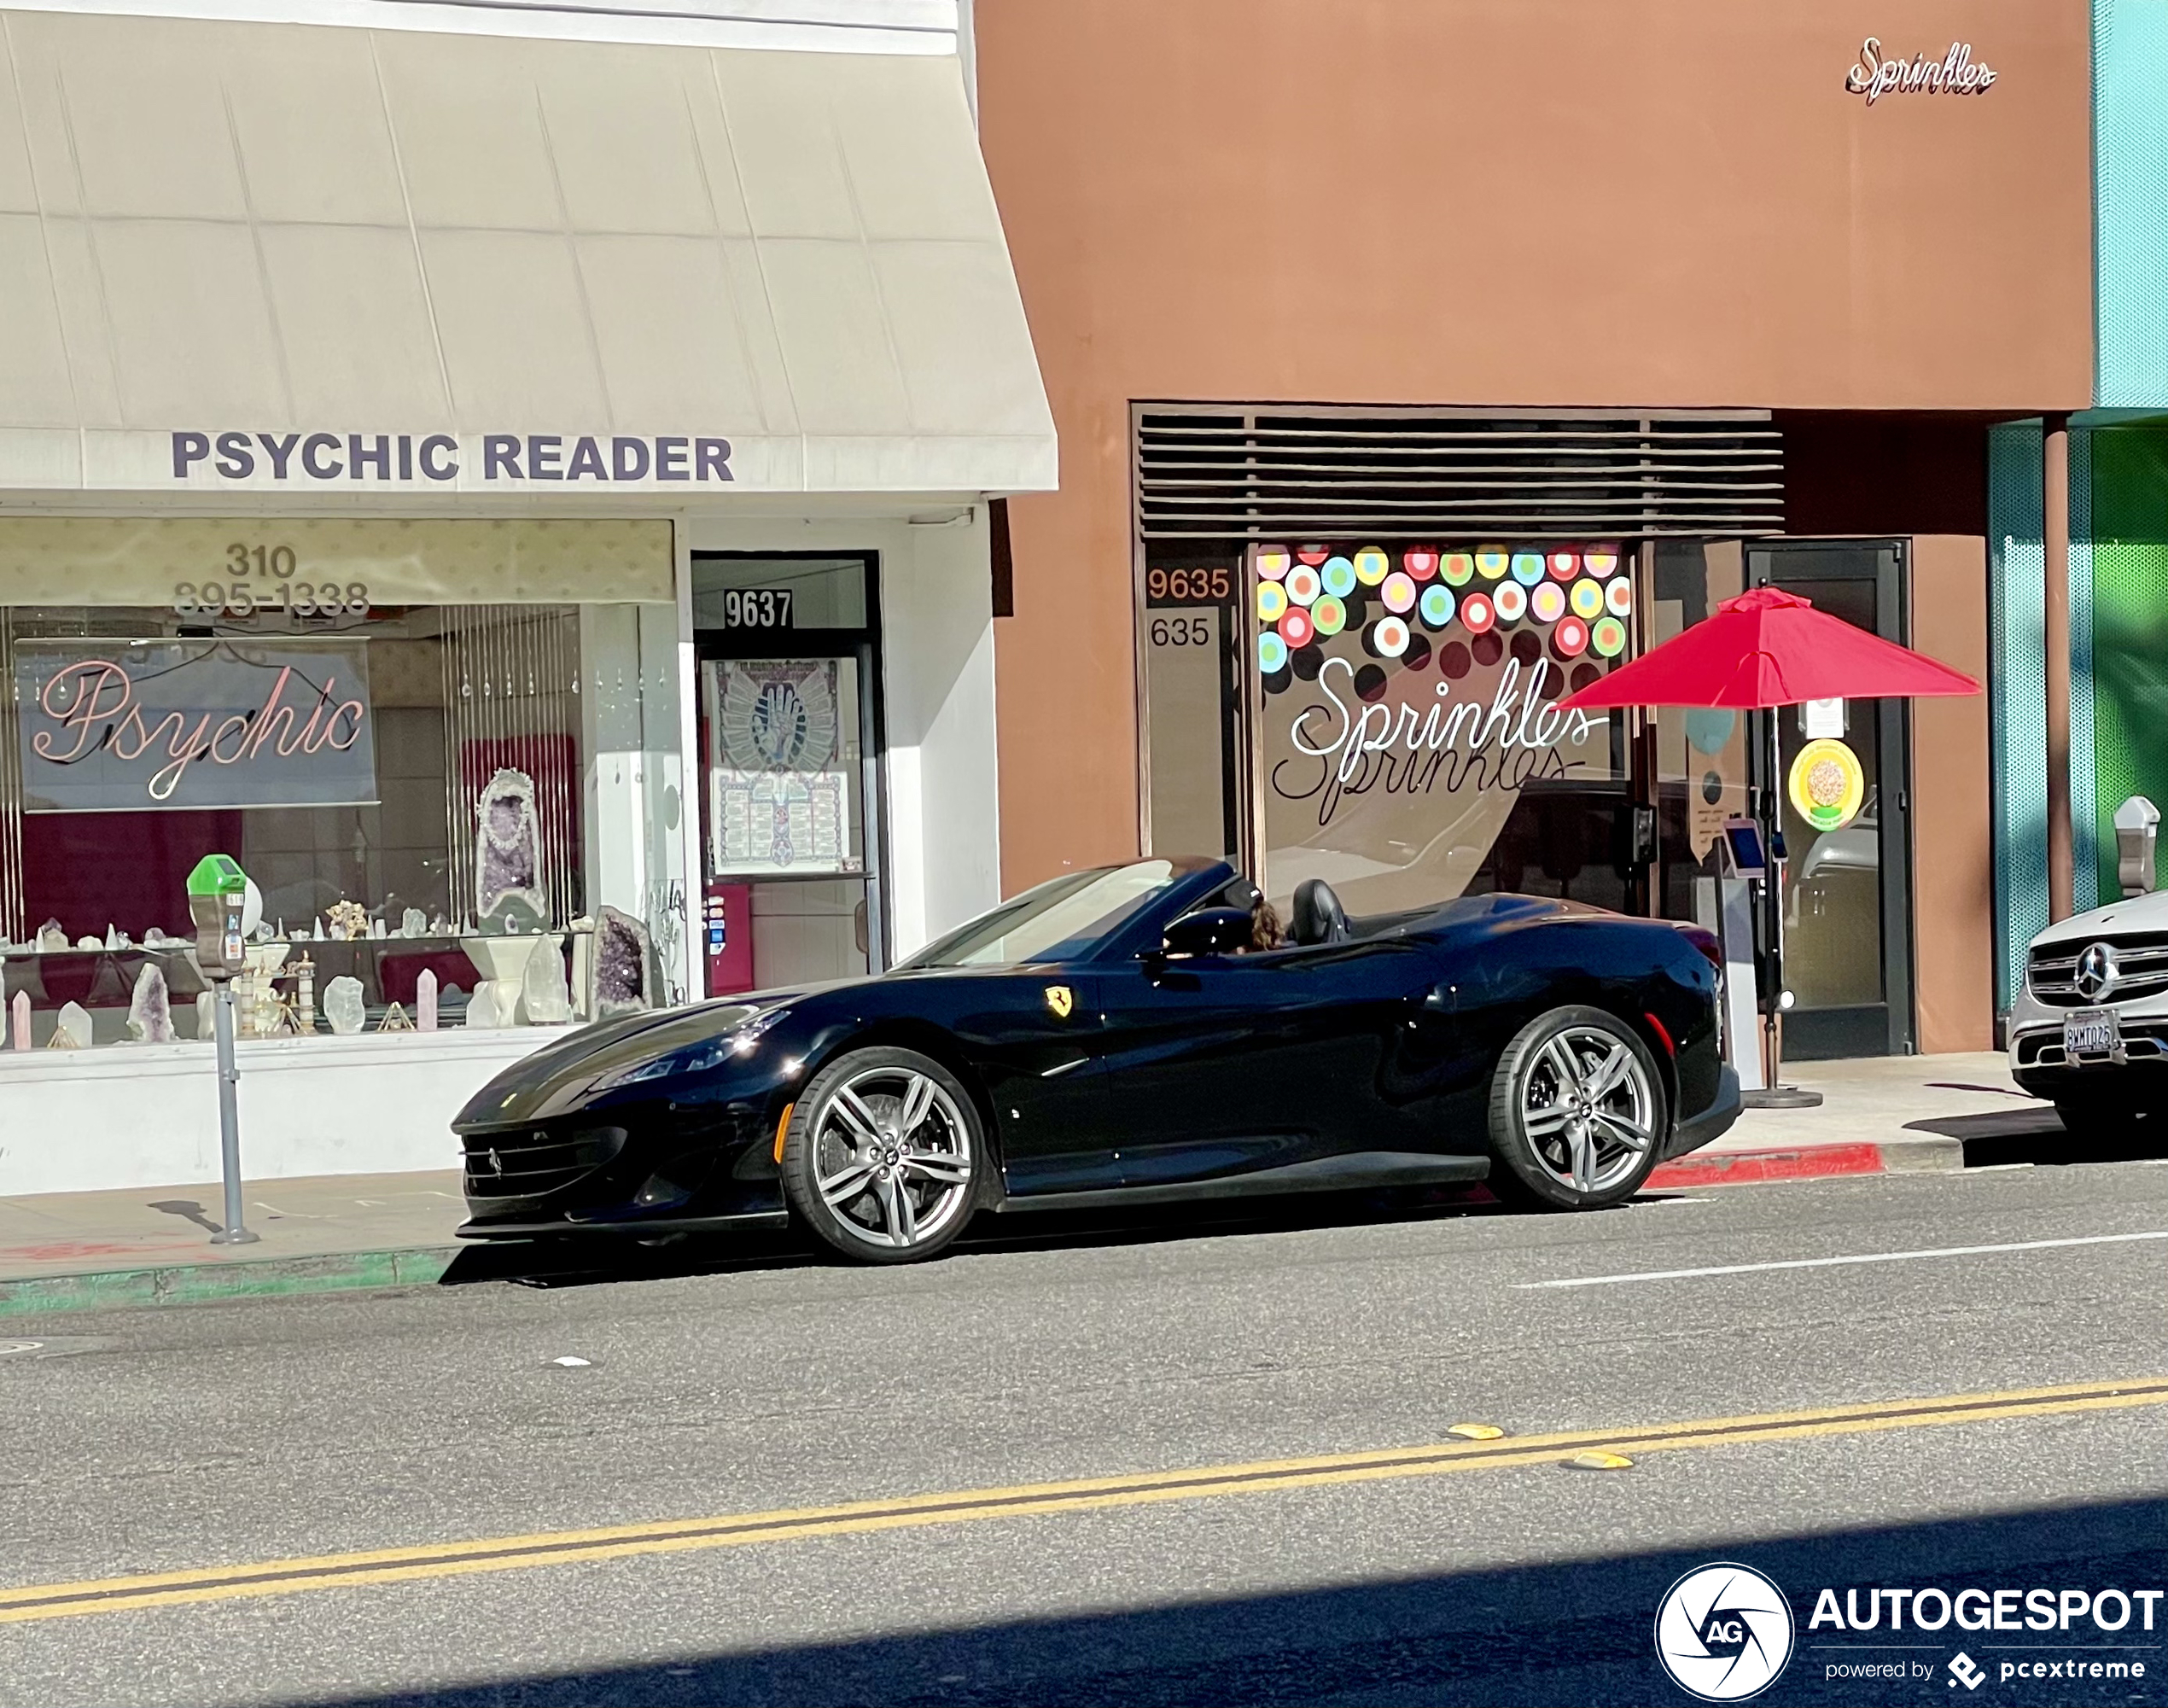
POLYGON ((15 642, 26 813, 377 800, 369 644, 15 642))

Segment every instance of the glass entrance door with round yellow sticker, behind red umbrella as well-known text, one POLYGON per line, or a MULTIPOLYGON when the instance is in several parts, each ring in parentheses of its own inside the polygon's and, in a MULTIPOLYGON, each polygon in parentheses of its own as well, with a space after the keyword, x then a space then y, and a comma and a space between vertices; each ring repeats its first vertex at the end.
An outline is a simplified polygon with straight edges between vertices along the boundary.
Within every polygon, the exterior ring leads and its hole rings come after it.
MULTIPOLYGON (((1901 542, 1802 540, 1747 546, 1747 585, 1782 587, 1819 611, 1873 635, 1910 644, 1906 553, 1901 542)), ((1819 713, 1828 717, 1828 713, 1819 713)), ((1754 713, 1752 782, 1769 787, 1769 726, 1778 720, 1784 847, 1784 1017, 1789 1060, 1912 1053, 1912 739, 1904 700, 1847 700, 1841 724, 1817 724, 1858 761, 1864 798, 1858 815, 1828 830, 1799 806, 1815 789, 1832 798, 1838 767, 1823 765, 1793 787, 1802 748, 1815 739, 1804 707, 1754 713), (1841 733, 1838 733, 1841 728, 1841 733)), ((1843 756, 1836 754, 1841 761, 1843 756)), ((1825 808, 1823 808, 1825 811, 1825 808)))

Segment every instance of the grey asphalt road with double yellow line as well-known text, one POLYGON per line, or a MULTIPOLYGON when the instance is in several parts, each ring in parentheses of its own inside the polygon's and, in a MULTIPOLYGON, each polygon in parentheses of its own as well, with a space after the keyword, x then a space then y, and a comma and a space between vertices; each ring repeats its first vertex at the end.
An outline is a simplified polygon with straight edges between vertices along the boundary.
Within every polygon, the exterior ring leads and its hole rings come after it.
POLYGON ((2151 1632, 1808 1628, 1823 1587, 2168 1587, 2168 1405, 1964 1398, 2168 1379, 2168 1238, 2129 1235, 2168 1235, 2168 1168, 11 1322, 0 1704, 1689 1701, 1650 1630, 1706 1561, 1797 1610, 1763 1701, 2161 1701, 2168 1602, 2151 1632), (1947 1396, 1973 1409, 1888 1426, 1947 1396), (1873 1415, 1650 1437, 1821 1407, 1873 1415), (1459 1422, 1507 1437, 1407 1452, 1459 1422), (1526 1446, 1574 1431, 1633 1465, 1526 1446), (1251 1470, 1149 1480, 1208 1465, 1251 1470), (1112 1483, 1043 1487, 1071 1478, 1112 1483), (1038 1491, 976 1493, 1004 1485, 1038 1491), (564 1535, 843 1502, 876 1511, 564 1535), (230 1571, 356 1550, 449 1552, 230 1571), (1999 1673, 2040 1658, 2146 1675, 1999 1673))

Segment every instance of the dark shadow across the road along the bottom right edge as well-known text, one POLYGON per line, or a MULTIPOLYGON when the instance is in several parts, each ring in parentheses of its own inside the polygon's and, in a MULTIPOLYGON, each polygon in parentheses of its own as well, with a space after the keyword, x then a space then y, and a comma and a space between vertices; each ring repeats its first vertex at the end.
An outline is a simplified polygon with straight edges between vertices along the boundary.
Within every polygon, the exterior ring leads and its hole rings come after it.
MULTIPOLYGON (((1565 1472, 1559 1472, 1561 1476, 1565 1472)), ((1240 1535, 1223 1530, 1221 1535, 1240 1535)), ((820 1543, 811 1543, 820 1545, 820 1543)), ((917 1543, 939 1548, 939 1541, 917 1543)), ((1685 1571, 1739 1561, 1791 1600, 1795 1647, 1765 1704, 1971 1701, 1949 1662, 1969 1654, 1999 1682, 2018 1660, 2142 1662, 2142 1678, 2001 1682, 1979 1701, 2168 1701, 2168 1615, 2120 1632, 2079 1617, 2068 1632, 1808 1630, 1834 1587, 2088 1589, 2168 1584, 2168 1500, 2062 1506, 1995 1517, 1834 1530, 1780 1541, 1711 1541, 1691 1552, 1619 1554, 1505 1571, 1437 1574, 1338 1589, 1162 1604, 1069 1619, 900 1636, 733 1647, 648 1665, 533 1673, 349 1708, 455 1704, 1652 1704, 1689 1701, 1659 1671, 1656 1602, 1685 1571), (1901 1652, 1860 1645, 1908 1643, 1901 1652), (1838 1647, 1843 1645, 1843 1647, 1838 1647), (2125 1647, 2103 1647, 2125 1645, 2125 1647), (1906 1682, 1832 1678, 1834 1665, 1917 1662, 1906 1682)), ((1240 1569, 1242 1561, 1225 1565, 1240 1569)), ((1140 1582, 1138 1595, 1151 1595, 1140 1582)), ((603 1582, 596 1582, 603 1591, 603 1582)), ((865 1606, 878 1608, 878 1587, 865 1606)), ((2023 1606, 2023 1602, 2018 1604, 2023 1606)), ((757 1632, 750 1602, 718 1623, 757 1632)))

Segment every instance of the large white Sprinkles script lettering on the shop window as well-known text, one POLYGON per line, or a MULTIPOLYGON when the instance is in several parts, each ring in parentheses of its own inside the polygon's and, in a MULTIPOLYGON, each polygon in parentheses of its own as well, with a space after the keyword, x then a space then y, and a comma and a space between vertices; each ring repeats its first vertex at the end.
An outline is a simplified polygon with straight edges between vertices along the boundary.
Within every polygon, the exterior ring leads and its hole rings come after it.
POLYGON ((1574 765, 1559 748, 1578 748, 1596 720, 1559 711, 1552 696, 1563 687, 1548 661, 1524 672, 1518 659, 1507 659, 1487 702, 1453 700, 1453 685, 1437 683, 1422 709, 1405 700, 1366 704, 1355 694, 1355 668, 1327 659, 1318 694, 1329 704, 1307 704, 1294 715, 1288 739, 1303 759, 1273 765, 1273 793, 1314 800, 1318 824, 1327 826, 1348 795, 1372 789, 1427 795, 1520 789, 1565 776, 1574 765))

